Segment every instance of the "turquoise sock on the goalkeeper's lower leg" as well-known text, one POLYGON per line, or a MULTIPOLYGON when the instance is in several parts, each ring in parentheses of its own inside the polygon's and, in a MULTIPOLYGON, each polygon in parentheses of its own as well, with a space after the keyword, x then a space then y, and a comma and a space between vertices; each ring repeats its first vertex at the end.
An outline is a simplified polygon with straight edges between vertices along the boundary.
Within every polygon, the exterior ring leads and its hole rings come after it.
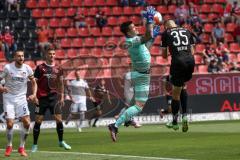
POLYGON ((133 116, 138 115, 142 109, 137 105, 131 106, 125 110, 125 112, 117 119, 115 127, 121 126, 124 122, 129 121, 133 116))

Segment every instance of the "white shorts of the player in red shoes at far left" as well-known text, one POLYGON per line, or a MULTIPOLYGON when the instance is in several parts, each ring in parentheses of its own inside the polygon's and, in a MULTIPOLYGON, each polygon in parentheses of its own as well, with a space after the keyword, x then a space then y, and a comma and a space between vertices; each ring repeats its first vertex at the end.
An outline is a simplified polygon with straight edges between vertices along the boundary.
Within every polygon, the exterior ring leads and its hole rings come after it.
POLYGON ((3 96, 3 110, 7 119, 21 118, 30 115, 26 97, 16 98, 3 96))

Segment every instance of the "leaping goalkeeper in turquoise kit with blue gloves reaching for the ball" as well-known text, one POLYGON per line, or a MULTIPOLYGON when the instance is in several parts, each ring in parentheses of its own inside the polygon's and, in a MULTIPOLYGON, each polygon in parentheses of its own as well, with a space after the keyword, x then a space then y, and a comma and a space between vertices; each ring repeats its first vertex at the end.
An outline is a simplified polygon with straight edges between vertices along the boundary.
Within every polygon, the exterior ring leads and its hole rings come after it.
POLYGON ((108 125, 113 142, 117 140, 118 128, 123 123, 130 121, 132 117, 138 115, 148 100, 151 64, 149 48, 153 44, 154 38, 160 32, 159 26, 153 28, 155 13, 155 8, 151 6, 147 7, 144 12, 146 33, 143 36, 138 36, 138 31, 131 21, 124 22, 120 26, 121 32, 126 36, 125 44, 128 47, 128 53, 132 62, 131 80, 134 87, 133 98, 135 104, 126 109, 115 123, 108 125))

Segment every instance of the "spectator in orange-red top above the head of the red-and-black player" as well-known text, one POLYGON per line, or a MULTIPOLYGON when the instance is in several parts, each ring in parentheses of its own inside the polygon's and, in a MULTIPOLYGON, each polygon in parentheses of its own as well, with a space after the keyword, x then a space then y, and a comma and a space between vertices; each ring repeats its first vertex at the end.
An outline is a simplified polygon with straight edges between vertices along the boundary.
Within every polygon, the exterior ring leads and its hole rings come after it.
POLYGON ((38 34, 38 42, 39 42, 41 54, 43 56, 50 46, 49 32, 47 27, 42 26, 42 28, 37 31, 37 34, 38 34))

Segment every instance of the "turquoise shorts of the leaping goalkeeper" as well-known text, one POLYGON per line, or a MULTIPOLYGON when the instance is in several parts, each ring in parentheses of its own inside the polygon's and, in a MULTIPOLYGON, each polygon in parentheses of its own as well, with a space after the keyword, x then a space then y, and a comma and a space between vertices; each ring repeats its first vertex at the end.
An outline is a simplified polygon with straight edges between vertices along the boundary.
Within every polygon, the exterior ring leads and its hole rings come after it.
POLYGON ((149 95, 150 74, 131 72, 135 101, 146 102, 149 95))

